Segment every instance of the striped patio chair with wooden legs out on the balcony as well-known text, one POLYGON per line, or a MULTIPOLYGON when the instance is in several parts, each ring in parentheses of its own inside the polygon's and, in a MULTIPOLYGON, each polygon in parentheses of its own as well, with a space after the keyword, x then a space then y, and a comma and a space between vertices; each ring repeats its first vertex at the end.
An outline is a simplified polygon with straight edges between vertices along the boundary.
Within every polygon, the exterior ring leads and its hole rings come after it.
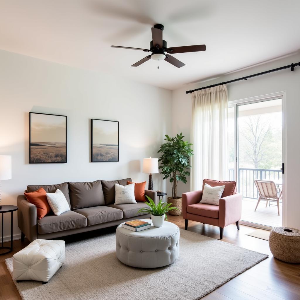
POLYGON ((265 207, 268 205, 268 201, 277 202, 278 216, 279 213, 279 200, 282 199, 282 190, 278 192, 276 184, 271 180, 254 180, 255 186, 258 190, 259 197, 254 211, 260 202, 260 200, 265 200, 265 207))

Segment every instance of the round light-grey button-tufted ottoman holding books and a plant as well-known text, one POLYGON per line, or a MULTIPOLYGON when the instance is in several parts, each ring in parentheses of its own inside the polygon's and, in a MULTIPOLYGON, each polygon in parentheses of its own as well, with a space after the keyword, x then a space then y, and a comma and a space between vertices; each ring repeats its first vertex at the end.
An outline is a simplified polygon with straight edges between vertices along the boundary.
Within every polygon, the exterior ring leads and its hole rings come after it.
MULTIPOLYGON (((151 220, 143 220, 152 223, 151 220)), ((170 265, 179 256, 179 228, 164 222, 139 232, 123 228, 116 230, 116 254, 125 265, 138 268, 158 268, 170 265)))

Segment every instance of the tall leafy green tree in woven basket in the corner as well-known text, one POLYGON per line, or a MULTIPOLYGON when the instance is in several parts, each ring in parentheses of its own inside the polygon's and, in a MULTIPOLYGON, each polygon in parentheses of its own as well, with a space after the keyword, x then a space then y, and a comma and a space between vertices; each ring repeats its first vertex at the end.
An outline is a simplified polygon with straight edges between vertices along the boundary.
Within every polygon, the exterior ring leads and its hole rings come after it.
POLYGON ((177 196, 177 184, 178 181, 187 183, 187 176, 190 176, 187 169, 191 168, 189 161, 193 155, 193 150, 190 148, 192 144, 183 140, 182 133, 172 138, 166 134, 165 137, 166 143, 162 144, 158 150, 158 153, 161 153, 158 160, 161 162, 159 169, 164 175, 163 179, 169 178, 172 185, 172 197, 168 197, 168 203, 173 203, 173 206, 178 208, 169 213, 180 215, 182 214, 182 198, 177 196))

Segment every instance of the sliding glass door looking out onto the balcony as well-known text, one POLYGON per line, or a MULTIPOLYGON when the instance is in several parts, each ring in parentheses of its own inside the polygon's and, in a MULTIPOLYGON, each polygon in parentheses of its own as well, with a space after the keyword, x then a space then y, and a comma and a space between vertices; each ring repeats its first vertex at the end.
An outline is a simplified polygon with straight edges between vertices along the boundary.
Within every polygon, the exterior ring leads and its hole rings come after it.
POLYGON ((277 196, 282 195, 282 98, 235 103, 228 109, 228 125, 229 179, 243 196, 241 221, 262 228, 281 226, 284 200, 258 203, 255 180, 264 187, 274 182, 277 196))

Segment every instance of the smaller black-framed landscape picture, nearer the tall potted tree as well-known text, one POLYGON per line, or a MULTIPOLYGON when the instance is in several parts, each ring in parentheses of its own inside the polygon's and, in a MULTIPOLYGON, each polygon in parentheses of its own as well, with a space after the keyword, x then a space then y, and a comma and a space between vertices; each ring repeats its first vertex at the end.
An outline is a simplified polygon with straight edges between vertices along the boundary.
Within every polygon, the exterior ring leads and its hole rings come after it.
POLYGON ((91 119, 91 161, 119 161, 119 122, 91 119))

